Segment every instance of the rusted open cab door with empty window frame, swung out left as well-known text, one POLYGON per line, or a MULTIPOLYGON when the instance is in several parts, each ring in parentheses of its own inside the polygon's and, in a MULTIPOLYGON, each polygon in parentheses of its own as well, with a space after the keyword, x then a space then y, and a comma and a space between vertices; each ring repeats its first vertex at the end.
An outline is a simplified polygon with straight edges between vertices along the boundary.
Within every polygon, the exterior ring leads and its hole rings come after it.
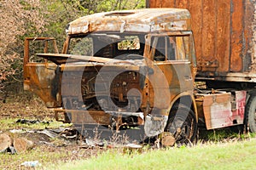
POLYGON ((48 63, 35 63, 30 61, 29 45, 30 42, 43 41, 44 53, 48 52, 48 42, 53 42, 55 53, 58 54, 55 38, 53 37, 26 37, 24 47, 24 89, 30 90, 43 99, 49 108, 61 106, 61 75, 57 70, 57 65, 48 63))

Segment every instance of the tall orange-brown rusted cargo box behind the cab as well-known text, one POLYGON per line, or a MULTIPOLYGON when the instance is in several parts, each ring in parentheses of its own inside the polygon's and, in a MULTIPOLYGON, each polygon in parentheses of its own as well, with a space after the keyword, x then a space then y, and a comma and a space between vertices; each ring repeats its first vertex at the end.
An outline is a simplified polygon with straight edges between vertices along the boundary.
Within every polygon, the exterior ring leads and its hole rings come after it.
POLYGON ((147 0, 148 8, 187 8, 197 79, 256 82, 255 0, 147 0))

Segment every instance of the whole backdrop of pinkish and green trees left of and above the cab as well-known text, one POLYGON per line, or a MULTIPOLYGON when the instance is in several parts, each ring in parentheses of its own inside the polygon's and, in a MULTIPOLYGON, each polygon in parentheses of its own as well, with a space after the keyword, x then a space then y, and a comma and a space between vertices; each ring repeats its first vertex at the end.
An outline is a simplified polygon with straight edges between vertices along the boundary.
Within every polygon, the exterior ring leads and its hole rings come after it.
POLYGON ((143 8, 145 0, 0 0, 0 91, 22 80, 25 37, 55 37, 59 49, 67 24, 96 12, 143 8))

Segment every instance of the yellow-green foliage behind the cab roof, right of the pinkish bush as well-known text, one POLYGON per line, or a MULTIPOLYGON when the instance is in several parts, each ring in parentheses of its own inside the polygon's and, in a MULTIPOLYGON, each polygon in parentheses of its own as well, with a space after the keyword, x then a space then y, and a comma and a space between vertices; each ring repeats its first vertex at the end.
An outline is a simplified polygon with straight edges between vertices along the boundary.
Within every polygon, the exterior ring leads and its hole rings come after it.
POLYGON ((53 0, 50 2, 44 0, 42 5, 47 7, 44 18, 48 24, 45 26, 47 31, 44 31, 41 36, 55 37, 58 48, 61 49, 66 37, 65 29, 69 22, 87 14, 103 11, 144 8, 145 0, 53 0))

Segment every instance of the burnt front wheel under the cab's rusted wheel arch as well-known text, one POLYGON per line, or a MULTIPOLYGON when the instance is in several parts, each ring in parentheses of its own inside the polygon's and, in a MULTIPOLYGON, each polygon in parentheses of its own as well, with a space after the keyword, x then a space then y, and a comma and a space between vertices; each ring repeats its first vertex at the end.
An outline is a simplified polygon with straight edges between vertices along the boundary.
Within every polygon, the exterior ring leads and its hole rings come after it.
POLYGON ((177 105, 170 111, 166 132, 172 133, 177 144, 190 144, 195 139, 195 113, 186 105, 177 105))

